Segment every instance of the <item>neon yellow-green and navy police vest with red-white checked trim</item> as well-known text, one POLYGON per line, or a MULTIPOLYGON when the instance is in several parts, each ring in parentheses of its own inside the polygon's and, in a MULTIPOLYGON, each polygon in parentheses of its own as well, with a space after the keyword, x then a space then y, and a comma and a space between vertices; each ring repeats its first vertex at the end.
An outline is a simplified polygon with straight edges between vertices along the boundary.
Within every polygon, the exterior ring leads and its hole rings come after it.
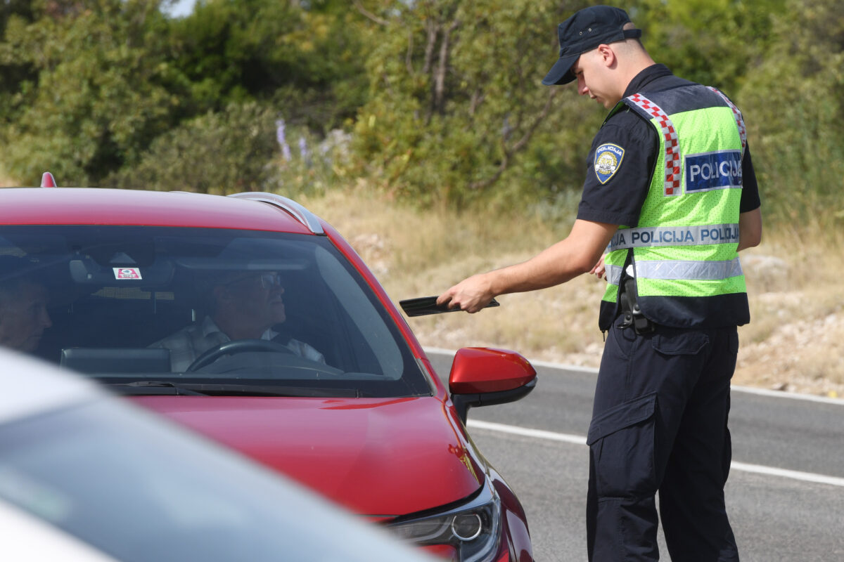
POLYGON ((625 105, 657 130, 659 153, 639 222, 619 226, 604 258, 601 329, 618 315, 619 284, 630 276, 641 312, 656 324, 746 324, 736 252, 746 146, 741 113, 715 88, 697 84, 634 94, 609 116, 625 105))

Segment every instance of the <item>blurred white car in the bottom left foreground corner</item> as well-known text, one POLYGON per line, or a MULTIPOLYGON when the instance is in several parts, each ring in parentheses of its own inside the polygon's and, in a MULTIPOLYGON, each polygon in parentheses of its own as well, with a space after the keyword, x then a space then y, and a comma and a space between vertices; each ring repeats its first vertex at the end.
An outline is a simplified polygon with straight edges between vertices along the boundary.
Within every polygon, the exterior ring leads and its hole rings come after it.
POLYGON ((426 555, 312 492, 54 367, 0 349, 0 560, 426 555))

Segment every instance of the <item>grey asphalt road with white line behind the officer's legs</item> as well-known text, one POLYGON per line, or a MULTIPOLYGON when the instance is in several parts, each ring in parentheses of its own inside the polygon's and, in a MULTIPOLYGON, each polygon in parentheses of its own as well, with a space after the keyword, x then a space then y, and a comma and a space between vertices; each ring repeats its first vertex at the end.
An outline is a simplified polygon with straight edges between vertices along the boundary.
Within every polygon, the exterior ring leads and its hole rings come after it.
MULTIPOLYGON (((430 350, 428 356, 447 378, 450 353, 430 350)), ((596 373, 534 366, 539 380, 533 393, 516 403, 470 409, 468 431, 522 500, 534 557, 582 562, 585 436, 596 373)), ((844 560, 842 421, 844 400, 733 388, 733 468, 726 493, 743 562, 844 560)))

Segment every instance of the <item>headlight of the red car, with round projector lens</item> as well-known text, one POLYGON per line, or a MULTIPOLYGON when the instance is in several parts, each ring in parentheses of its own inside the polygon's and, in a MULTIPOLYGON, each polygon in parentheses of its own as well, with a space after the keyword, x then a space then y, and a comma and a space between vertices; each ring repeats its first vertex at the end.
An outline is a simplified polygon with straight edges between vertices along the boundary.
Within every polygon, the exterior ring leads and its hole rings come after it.
POLYGON ((479 494, 462 506, 398 520, 387 528, 417 546, 452 547, 460 562, 487 562, 498 551, 500 524, 500 498, 484 484, 479 494))

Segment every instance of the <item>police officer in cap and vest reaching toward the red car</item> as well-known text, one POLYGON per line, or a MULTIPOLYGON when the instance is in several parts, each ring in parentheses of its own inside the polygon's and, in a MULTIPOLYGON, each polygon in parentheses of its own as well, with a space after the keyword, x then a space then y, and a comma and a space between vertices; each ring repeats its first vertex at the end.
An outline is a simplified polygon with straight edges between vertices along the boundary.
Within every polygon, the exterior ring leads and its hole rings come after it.
POLYGON ((762 229, 744 120, 724 94, 656 64, 624 10, 585 8, 558 35, 543 83, 576 81, 610 110, 571 233, 438 302, 473 313, 502 293, 606 276, 587 435, 589 559, 658 559, 658 490, 672 559, 738 560, 723 495, 736 327, 749 321, 737 253, 762 229))

